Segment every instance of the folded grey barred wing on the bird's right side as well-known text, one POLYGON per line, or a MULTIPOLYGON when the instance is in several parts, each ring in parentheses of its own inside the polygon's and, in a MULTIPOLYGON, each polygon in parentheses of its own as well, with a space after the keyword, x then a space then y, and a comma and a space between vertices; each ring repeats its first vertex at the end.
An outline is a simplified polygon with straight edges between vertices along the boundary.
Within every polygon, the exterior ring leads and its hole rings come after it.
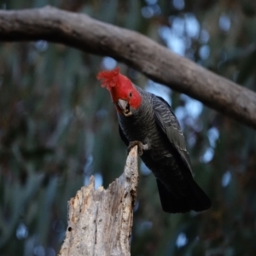
POLYGON ((181 158, 184 166, 192 173, 185 138, 183 137, 183 132, 172 108, 160 96, 153 96, 153 108, 156 123, 159 125, 161 131, 166 134, 169 142, 172 144, 172 148, 174 148, 177 156, 181 158))

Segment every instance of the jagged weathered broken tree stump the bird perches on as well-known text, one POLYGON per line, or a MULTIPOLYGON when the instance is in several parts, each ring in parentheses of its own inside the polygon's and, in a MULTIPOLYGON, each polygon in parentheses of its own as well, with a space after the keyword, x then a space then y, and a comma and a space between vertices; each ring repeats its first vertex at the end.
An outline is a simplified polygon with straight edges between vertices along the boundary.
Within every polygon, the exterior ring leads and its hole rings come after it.
POLYGON ((137 196, 137 146, 124 173, 108 189, 95 190, 94 177, 68 202, 68 226, 60 256, 126 256, 130 253, 137 196))

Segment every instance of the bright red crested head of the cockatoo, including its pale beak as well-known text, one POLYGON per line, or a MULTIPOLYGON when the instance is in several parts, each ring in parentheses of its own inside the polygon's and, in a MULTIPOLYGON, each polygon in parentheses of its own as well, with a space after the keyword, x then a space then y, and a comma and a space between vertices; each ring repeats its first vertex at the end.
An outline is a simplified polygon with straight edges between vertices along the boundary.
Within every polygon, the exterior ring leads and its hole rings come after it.
POLYGON ((119 113, 129 116, 132 114, 130 107, 137 109, 140 106, 142 96, 133 86, 130 79, 119 73, 119 67, 98 73, 97 79, 102 80, 102 87, 109 90, 112 101, 119 113))

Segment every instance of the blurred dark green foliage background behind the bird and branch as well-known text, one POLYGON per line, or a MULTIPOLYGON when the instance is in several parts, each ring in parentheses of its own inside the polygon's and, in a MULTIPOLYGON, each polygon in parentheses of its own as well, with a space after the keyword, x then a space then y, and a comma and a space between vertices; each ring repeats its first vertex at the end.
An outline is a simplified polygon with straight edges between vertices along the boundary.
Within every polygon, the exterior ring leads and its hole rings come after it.
MULTIPOLYGON (((0 2, 46 4, 141 32, 180 55, 255 90, 252 1, 0 2)), ((112 58, 45 41, 0 44, 0 252, 55 255, 67 200, 91 174, 105 187, 119 176, 125 147, 108 92, 96 82, 112 58)), ((134 83, 165 94, 183 125, 195 179, 210 211, 161 211, 153 175, 141 166, 132 255, 254 255, 256 142, 252 129, 119 65, 134 83)))

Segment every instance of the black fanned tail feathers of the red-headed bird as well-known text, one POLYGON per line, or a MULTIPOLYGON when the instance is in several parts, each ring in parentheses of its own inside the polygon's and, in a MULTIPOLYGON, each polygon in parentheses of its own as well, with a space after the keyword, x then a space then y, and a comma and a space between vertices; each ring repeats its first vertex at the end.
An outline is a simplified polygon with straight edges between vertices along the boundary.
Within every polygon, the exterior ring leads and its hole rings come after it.
POLYGON ((212 207, 212 201, 199 187, 193 178, 188 178, 189 194, 179 198, 173 195, 166 186, 156 179, 162 208, 165 212, 184 213, 194 210, 201 212, 212 207))

